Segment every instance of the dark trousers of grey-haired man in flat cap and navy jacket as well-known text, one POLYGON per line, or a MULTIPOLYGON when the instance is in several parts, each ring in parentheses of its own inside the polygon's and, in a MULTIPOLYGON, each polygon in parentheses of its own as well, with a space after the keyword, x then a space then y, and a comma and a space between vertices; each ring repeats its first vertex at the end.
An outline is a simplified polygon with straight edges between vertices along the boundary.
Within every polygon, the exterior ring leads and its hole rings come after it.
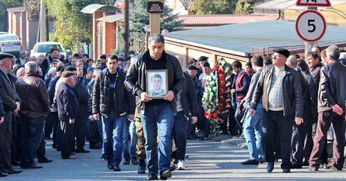
POLYGON ((74 124, 70 124, 69 120, 64 120, 60 122, 60 126, 62 128, 61 155, 63 159, 66 159, 71 156, 74 124))

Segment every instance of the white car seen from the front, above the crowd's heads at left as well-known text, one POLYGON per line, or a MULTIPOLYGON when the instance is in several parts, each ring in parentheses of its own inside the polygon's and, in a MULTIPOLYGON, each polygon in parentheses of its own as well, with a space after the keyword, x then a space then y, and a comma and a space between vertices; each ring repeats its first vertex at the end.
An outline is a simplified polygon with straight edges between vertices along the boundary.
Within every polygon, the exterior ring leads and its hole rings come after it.
POLYGON ((52 48, 57 48, 60 50, 60 54, 66 57, 66 50, 62 44, 58 42, 39 42, 35 44, 33 50, 30 51, 30 56, 38 57, 39 55, 46 55, 46 53, 50 53, 52 48))

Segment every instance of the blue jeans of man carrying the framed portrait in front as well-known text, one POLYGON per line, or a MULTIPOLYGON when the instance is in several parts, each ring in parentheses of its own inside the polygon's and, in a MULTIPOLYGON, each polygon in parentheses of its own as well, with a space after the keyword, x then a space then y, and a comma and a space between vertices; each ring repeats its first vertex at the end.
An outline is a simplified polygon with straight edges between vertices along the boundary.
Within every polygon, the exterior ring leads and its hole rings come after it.
POLYGON ((150 173, 170 169, 172 154, 172 127, 174 113, 170 103, 156 106, 145 106, 145 114, 140 114, 145 137, 145 151, 147 153, 148 169, 150 173), (157 148, 157 134, 158 148, 157 148), (157 150, 158 149, 158 150, 157 150), (158 158, 158 152, 160 153, 158 158))

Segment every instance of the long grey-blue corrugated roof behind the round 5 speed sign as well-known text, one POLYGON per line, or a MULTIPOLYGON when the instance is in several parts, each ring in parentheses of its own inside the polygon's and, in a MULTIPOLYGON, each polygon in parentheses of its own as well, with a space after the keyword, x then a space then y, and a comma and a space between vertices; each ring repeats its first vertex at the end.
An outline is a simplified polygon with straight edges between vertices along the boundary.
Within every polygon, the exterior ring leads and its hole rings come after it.
MULTIPOLYGON (((346 28, 327 26, 325 36, 318 44, 346 44, 346 28)), ((248 57, 252 47, 286 47, 301 50, 304 41, 295 32, 295 23, 290 21, 258 21, 212 28, 183 30, 164 35, 165 39, 207 48, 233 55, 248 57), (297 49, 298 48, 298 49, 297 49)))

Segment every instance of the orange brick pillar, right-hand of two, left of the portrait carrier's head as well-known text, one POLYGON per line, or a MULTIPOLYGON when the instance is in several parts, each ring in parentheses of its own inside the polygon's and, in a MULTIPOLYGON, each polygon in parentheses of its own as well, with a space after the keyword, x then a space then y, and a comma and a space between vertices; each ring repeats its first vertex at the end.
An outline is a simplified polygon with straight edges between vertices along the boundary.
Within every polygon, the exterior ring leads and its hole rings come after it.
POLYGON ((111 55, 111 51, 116 49, 116 22, 104 22, 103 44, 106 55, 111 55))

